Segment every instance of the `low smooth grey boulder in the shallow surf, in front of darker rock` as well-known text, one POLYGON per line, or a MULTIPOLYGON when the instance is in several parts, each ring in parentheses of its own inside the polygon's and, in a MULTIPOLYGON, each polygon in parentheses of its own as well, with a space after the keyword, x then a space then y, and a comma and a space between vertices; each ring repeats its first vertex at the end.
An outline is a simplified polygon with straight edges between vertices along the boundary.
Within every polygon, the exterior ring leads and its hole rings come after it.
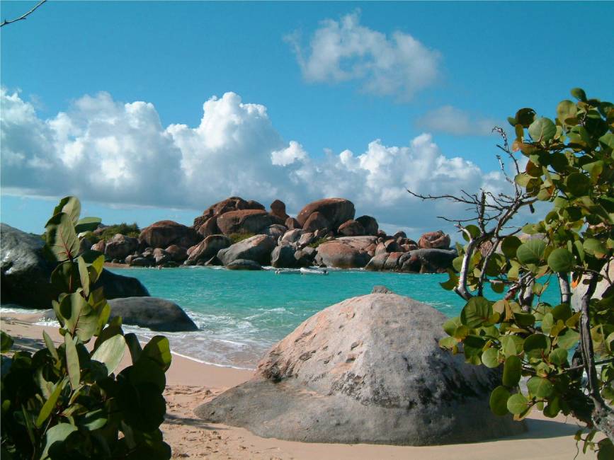
POLYGON ((164 332, 198 330, 181 306, 157 297, 126 297, 109 301, 110 318, 122 317, 123 324, 164 332))

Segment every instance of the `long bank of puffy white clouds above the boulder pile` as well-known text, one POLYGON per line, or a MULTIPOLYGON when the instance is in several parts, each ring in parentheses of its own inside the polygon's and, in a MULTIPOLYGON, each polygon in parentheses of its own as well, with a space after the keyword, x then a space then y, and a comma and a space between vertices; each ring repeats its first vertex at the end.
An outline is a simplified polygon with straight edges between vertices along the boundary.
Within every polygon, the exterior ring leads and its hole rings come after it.
POLYGON ((310 156, 285 142, 266 107, 235 93, 203 104, 198 126, 161 125, 152 103, 121 103, 108 93, 84 96, 42 120, 18 93, 1 90, 1 185, 4 193, 63 196, 119 205, 205 209, 230 195, 290 212, 322 197, 346 197, 360 214, 391 226, 439 228, 438 215, 462 217, 449 202, 424 205, 423 194, 497 190, 500 173, 443 154, 431 134, 407 146, 380 139, 355 154, 310 156))

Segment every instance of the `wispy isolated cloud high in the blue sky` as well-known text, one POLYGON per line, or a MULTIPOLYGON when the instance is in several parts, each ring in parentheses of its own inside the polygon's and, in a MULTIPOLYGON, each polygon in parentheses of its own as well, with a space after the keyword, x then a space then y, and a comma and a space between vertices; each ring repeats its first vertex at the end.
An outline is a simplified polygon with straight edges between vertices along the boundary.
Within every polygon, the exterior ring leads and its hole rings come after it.
POLYGON ((360 25, 358 12, 339 21, 322 21, 306 49, 297 32, 287 40, 307 81, 357 80, 364 91, 407 100, 433 84, 440 73, 436 50, 398 30, 387 36, 360 25))

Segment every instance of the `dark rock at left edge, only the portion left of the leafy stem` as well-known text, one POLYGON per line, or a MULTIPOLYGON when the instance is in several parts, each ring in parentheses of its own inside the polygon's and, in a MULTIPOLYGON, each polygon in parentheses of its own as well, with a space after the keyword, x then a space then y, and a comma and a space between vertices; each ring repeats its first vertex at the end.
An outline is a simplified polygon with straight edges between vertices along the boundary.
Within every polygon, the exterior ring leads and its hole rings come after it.
POLYGON ((45 259, 45 241, 10 225, 0 224, 2 303, 47 309, 54 297, 49 277, 55 263, 45 259))

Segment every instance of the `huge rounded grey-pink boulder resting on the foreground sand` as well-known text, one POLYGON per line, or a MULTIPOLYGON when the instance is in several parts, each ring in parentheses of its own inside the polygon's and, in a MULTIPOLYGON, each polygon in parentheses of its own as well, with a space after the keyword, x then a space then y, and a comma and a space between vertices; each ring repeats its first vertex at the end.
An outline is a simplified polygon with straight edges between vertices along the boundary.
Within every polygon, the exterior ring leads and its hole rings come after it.
POLYGON ((444 321, 397 294, 342 301, 274 345, 251 380, 195 413, 301 442, 431 445, 523 432, 523 422, 489 408, 500 372, 438 346, 444 321))

